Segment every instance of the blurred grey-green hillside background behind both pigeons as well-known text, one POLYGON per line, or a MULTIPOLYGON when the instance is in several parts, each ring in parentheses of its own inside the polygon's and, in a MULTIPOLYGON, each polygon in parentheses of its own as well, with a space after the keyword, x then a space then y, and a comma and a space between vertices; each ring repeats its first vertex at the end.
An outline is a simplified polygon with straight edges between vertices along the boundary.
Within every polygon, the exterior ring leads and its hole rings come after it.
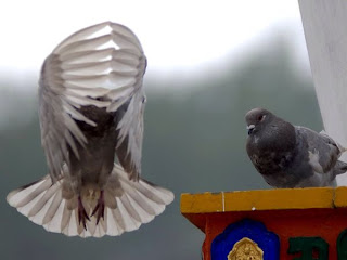
MULTIPOLYGON (((168 80, 145 78, 142 172, 174 191, 176 200, 140 230, 101 239, 48 233, 5 203, 11 190, 39 179, 47 167, 36 93, 16 91, 2 77, 1 259, 201 259, 204 234, 180 214, 180 194, 269 188, 245 152, 245 113, 261 106, 295 125, 322 129, 311 79, 293 56, 288 39, 277 35, 267 48, 242 55, 237 66, 226 57, 216 75, 195 72, 194 80, 187 81, 180 74, 168 80)), ((25 83, 36 84, 31 78, 25 83)))

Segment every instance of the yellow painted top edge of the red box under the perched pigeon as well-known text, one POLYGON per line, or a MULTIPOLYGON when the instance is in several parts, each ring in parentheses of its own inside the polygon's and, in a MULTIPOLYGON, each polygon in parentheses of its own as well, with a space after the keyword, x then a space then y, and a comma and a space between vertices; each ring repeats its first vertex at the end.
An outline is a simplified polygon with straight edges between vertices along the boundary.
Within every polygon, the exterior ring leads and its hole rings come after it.
POLYGON ((347 187, 182 194, 182 213, 347 207, 347 187))

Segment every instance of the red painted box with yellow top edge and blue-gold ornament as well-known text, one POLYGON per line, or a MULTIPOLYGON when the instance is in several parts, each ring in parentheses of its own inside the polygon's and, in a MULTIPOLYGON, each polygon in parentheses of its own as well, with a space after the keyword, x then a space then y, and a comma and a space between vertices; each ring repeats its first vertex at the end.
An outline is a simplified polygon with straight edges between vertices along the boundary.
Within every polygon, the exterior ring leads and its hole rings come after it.
POLYGON ((347 260, 347 187, 182 194, 204 260, 347 260))

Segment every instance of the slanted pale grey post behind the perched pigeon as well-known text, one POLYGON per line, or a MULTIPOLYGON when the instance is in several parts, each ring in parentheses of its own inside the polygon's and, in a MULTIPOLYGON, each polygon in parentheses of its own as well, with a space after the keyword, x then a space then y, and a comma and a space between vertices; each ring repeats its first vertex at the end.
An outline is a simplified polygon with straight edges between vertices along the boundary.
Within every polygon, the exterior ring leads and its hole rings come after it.
MULTIPOLYGON (((298 1, 324 128, 346 147, 347 1, 298 1)), ((346 160, 347 155, 342 159, 346 160)), ((337 184, 347 185, 347 174, 339 176, 337 184)))

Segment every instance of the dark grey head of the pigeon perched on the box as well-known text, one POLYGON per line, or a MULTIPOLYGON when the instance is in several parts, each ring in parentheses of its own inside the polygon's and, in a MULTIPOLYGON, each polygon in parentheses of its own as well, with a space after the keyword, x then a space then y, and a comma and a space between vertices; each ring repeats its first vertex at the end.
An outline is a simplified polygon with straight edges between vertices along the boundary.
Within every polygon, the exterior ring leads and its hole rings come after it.
POLYGON ((271 112, 264 108, 254 108, 247 112, 245 119, 247 123, 248 135, 258 132, 271 119, 273 115, 271 112))

